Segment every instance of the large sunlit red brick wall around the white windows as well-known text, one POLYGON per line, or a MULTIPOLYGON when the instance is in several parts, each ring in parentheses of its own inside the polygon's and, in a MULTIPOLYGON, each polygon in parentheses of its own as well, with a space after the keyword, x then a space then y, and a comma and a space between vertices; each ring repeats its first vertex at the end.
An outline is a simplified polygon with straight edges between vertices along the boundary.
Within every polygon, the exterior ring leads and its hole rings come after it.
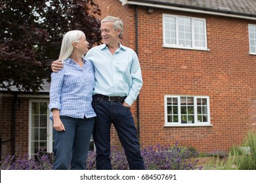
MULTIPOLYGON (((135 7, 120 1, 96 1, 102 17, 124 22, 125 46, 135 49, 135 7), (128 34, 128 35, 127 35, 128 34)), ((255 128, 256 56, 249 55, 248 24, 253 20, 138 7, 139 59, 144 85, 140 92, 140 141, 143 146, 174 144, 201 152, 241 144, 255 128), (209 51, 163 48, 162 14, 205 18, 209 51), (210 97, 212 127, 164 127, 164 95, 210 97)), ((133 114, 135 114, 133 106, 133 114)))

